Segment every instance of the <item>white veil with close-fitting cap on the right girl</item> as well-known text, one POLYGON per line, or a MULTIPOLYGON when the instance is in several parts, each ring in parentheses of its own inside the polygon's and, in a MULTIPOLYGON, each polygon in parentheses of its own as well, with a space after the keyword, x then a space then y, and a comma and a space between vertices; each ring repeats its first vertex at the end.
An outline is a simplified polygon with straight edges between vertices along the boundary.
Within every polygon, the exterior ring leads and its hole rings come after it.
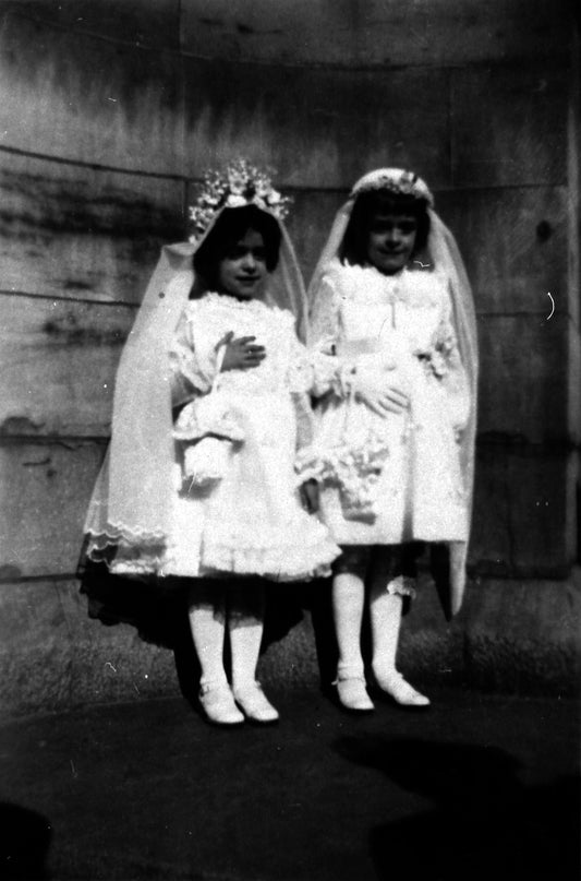
MULTIPOLYGON (((348 201, 335 216, 331 230, 322 255, 308 285, 307 302, 313 310, 323 276, 339 261, 339 253, 344 234, 351 218, 356 198, 368 190, 388 189, 407 192, 424 199, 428 207, 429 234, 425 252, 421 254, 423 262, 431 263, 440 275, 448 279, 452 301, 452 323, 458 340, 462 366, 467 373, 470 389, 470 416, 460 441, 460 462, 465 493, 468 517, 472 513, 472 496, 474 484, 474 445, 476 436, 476 397, 477 397, 477 334, 474 301, 468 275, 460 251, 450 230, 433 210, 434 200, 425 182, 409 171, 399 168, 382 168, 371 171, 353 187, 348 201)), ((316 341, 310 340, 310 343, 316 341)), ((465 587, 465 562, 468 541, 450 541, 449 609, 456 615, 462 605, 465 587)))

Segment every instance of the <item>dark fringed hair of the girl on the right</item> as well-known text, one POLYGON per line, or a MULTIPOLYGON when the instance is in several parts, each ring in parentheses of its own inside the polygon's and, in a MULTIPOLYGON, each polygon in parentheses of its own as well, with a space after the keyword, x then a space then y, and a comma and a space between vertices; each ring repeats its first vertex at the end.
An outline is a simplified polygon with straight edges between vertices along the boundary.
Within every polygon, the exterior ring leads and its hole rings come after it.
POLYGON ((429 235, 429 215, 425 199, 395 193, 389 190, 367 190, 355 199, 339 258, 342 263, 364 265, 367 262, 367 240, 375 214, 406 214, 415 217, 417 231, 413 253, 424 250, 429 235))

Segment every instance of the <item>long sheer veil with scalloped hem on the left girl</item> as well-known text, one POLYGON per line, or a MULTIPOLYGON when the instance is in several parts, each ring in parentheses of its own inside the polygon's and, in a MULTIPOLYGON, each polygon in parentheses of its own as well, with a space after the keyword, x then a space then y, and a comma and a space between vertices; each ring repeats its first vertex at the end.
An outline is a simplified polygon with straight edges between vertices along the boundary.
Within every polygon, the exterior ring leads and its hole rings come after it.
MULTIPOLYGON (((117 545, 164 543, 173 498, 171 371, 168 353, 190 297, 204 294, 193 255, 222 211, 195 243, 167 245, 147 285, 117 371, 111 442, 85 520, 88 555, 95 559, 117 545)), ((265 301, 289 309, 305 336, 305 293, 293 247, 282 222, 277 267, 269 274, 265 301)))

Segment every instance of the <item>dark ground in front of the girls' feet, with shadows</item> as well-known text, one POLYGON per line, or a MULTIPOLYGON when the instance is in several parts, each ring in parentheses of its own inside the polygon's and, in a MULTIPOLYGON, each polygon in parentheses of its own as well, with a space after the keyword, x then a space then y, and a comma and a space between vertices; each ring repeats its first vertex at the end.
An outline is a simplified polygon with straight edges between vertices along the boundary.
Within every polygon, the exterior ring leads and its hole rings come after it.
POLYGON ((450 689, 353 717, 270 697, 263 729, 180 699, 2 726, 8 878, 578 881, 573 702, 450 689))

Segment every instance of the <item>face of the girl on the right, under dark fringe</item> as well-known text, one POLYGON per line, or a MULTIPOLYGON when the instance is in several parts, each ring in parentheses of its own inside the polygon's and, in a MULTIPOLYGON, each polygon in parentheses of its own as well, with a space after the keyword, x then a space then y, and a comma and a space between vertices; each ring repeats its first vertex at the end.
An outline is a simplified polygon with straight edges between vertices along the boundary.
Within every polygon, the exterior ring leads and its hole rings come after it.
POLYGON ((411 258, 416 234, 417 219, 413 214, 376 212, 367 234, 367 260, 385 275, 394 275, 411 258))

